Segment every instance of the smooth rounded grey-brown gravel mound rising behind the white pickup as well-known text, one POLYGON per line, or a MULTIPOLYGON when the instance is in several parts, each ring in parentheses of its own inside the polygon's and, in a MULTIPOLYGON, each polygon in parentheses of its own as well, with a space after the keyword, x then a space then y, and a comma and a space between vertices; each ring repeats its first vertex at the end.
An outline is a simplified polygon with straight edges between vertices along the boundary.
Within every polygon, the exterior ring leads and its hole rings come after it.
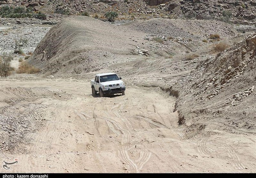
POLYGON ((216 33, 222 39, 237 34, 233 26, 215 20, 153 18, 115 26, 71 16, 51 28, 29 61, 42 69, 41 74, 81 75, 132 60, 126 55, 172 58, 194 52, 207 44, 204 38, 216 33))

